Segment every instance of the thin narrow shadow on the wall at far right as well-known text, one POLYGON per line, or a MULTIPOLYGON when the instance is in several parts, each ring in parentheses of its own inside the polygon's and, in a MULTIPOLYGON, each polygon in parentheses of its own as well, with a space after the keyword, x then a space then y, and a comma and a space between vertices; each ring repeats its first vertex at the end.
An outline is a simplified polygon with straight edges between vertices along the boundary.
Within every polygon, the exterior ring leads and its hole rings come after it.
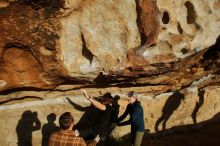
POLYGON ((205 90, 199 90, 199 93, 198 93, 199 102, 196 102, 195 109, 192 112, 192 119, 193 119, 194 124, 197 124, 196 115, 204 103, 204 95, 205 95, 205 90))

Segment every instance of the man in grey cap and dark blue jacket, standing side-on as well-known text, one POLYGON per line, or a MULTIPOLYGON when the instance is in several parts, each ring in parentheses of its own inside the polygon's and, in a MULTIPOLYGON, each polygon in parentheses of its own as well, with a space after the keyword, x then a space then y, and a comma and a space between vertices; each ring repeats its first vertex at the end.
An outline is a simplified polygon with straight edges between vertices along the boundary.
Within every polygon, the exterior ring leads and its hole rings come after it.
POLYGON ((140 102, 137 100, 137 93, 128 93, 128 105, 125 112, 116 120, 115 126, 131 125, 131 144, 141 146, 144 135, 144 112, 140 102), (128 115, 130 119, 123 121, 128 115), (122 122, 123 121, 123 122, 122 122))

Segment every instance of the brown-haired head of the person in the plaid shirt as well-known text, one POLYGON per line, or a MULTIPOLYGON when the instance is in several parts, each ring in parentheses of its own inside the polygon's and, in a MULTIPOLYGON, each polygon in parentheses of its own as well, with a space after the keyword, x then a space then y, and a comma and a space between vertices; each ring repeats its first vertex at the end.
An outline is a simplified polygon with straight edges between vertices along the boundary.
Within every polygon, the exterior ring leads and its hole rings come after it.
POLYGON ((70 112, 63 113, 59 118, 60 128, 63 130, 72 128, 74 118, 70 112))

